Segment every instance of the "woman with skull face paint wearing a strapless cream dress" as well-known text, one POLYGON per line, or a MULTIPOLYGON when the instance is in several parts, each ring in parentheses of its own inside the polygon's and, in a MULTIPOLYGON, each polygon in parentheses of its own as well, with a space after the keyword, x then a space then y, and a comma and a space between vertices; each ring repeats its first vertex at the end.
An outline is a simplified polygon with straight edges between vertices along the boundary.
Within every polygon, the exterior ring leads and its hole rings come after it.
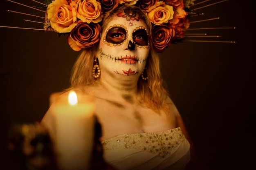
MULTIPOLYGON (((108 11, 99 44, 81 52, 71 87, 62 95, 74 90, 93 98, 103 157, 118 170, 181 170, 190 155, 191 164, 196 159, 182 118, 164 88, 150 37, 150 20, 138 7, 119 5, 108 11)), ((74 39, 71 33, 71 47, 80 48, 74 39)), ((42 123, 54 138, 51 108, 42 123)))

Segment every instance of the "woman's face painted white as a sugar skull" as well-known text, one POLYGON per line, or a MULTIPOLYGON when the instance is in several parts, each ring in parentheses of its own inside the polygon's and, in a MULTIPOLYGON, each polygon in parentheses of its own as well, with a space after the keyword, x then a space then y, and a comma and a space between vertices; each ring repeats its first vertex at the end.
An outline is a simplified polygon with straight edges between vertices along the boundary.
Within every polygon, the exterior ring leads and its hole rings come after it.
POLYGON ((144 21, 127 21, 126 17, 114 16, 101 33, 97 54, 101 76, 110 73, 138 77, 145 68, 148 53, 144 21))

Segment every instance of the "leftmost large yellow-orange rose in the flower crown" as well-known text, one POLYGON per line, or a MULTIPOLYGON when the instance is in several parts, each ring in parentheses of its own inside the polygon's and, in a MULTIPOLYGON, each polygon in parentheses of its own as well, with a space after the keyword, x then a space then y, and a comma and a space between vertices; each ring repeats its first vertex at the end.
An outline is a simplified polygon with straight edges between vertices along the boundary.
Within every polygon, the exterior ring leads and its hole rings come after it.
POLYGON ((69 33, 77 25, 74 7, 67 0, 54 0, 47 7, 48 20, 58 33, 69 33))

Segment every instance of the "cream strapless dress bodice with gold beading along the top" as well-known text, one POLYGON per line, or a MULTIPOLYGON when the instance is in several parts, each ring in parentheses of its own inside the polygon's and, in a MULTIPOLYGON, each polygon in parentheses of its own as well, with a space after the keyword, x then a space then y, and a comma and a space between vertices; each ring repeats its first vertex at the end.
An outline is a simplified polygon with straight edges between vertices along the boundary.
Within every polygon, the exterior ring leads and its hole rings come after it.
POLYGON ((102 141, 104 159, 118 170, 181 170, 190 144, 181 129, 135 133, 102 141))

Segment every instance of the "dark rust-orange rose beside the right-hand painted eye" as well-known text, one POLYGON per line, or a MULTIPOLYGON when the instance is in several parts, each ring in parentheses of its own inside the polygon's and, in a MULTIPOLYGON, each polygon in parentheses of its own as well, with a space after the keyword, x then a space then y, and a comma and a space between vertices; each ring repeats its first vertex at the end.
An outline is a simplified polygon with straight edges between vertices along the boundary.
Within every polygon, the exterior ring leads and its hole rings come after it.
POLYGON ((163 52, 171 44, 174 36, 173 28, 167 25, 154 25, 152 27, 152 42, 157 52, 163 52))

